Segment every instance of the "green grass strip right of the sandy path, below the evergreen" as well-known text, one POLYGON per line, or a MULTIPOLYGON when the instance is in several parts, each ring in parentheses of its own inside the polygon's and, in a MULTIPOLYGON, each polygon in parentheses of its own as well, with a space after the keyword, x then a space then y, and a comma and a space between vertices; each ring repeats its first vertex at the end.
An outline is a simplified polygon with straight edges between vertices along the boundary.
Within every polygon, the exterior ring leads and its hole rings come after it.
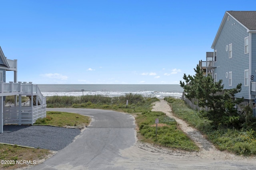
POLYGON ((180 119, 206 135, 209 141, 220 150, 228 150, 239 155, 256 155, 256 132, 252 129, 227 129, 219 126, 212 128, 210 121, 202 112, 190 109, 183 100, 165 98, 171 106, 172 112, 180 119))

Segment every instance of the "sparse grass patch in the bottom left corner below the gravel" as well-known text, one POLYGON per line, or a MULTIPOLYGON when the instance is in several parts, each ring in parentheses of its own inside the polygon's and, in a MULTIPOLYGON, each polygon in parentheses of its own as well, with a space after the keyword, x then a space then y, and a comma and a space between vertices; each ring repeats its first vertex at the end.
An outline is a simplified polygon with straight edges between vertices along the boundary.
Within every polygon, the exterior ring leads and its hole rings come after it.
POLYGON ((38 160, 46 158, 50 154, 46 149, 32 149, 18 147, 17 145, 0 144, 0 160, 11 161, 8 164, 0 164, 1 170, 13 170, 27 166, 27 164, 18 164, 22 160, 28 160, 33 163, 38 163, 38 160), (33 162, 35 161, 35 162, 33 162))

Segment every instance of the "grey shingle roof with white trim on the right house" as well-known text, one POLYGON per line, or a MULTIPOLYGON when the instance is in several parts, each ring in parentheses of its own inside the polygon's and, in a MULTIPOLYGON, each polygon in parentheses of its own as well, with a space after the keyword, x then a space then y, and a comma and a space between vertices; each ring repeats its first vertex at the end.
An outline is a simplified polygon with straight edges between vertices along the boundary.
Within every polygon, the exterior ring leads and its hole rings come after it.
POLYGON ((234 20, 245 27, 247 32, 256 32, 256 11, 226 11, 216 37, 212 43, 212 49, 214 49, 216 41, 228 16, 231 16, 234 20))

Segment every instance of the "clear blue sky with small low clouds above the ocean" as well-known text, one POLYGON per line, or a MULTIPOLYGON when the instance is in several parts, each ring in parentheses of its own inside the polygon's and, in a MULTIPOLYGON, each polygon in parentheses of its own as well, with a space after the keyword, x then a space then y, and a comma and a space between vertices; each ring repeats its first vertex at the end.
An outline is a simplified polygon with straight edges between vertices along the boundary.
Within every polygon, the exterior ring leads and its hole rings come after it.
MULTIPOLYGON (((246 0, 0 0, 0 46, 33 84, 179 84, 246 0)), ((13 81, 6 73, 6 82, 13 81)))

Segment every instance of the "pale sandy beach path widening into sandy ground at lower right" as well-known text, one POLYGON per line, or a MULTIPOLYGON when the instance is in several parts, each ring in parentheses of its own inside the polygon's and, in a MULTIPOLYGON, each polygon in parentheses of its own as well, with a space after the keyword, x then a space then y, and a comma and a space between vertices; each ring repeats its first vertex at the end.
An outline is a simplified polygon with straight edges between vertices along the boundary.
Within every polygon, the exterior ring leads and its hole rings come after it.
POLYGON ((140 170, 254 170, 255 157, 237 156, 229 152, 221 152, 208 142, 200 132, 188 126, 181 119, 172 115, 169 104, 160 100, 152 111, 162 111, 174 118, 180 128, 200 147, 198 152, 188 152, 177 149, 167 149, 154 144, 136 141, 134 146, 120 150, 120 156, 111 162, 112 169, 140 170))

